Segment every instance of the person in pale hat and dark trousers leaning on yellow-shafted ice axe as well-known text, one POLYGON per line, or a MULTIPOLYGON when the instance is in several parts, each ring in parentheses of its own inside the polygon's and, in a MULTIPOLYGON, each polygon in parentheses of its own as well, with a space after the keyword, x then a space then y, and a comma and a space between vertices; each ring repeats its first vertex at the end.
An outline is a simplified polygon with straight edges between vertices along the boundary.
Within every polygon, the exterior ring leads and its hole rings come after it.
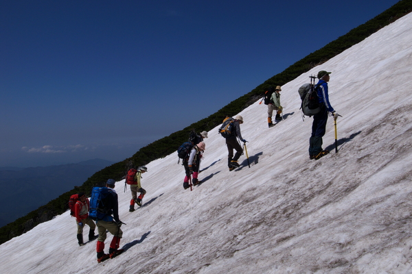
MULTIPOLYGON (((228 118, 226 118, 225 120, 227 119, 228 118)), ((233 171, 233 169, 240 166, 238 164, 238 159, 243 153, 243 149, 242 147, 240 147, 240 144, 238 140, 236 140, 236 137, 238 137, 242 142, 247 142, 247 140, 244 140, 242 138, 242 134, 240 133, 240 124, 242 123, 243 117, 240 115, 236 116, 233 121, 233 131, 231 132, 231 135, 226 138, 227 151, 229 152, 229 154, 227 155, 227 165, 229 166, 229 171, 233 171), (236 149, 236 154, 234 157, 233 149, 236 149)))

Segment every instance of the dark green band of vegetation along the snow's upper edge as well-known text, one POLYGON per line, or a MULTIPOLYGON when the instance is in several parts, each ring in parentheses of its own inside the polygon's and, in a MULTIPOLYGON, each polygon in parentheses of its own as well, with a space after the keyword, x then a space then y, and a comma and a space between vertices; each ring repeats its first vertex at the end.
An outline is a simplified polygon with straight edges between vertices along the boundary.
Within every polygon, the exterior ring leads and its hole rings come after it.
POLYGON ((240 111, 244 110, 244 108, 247 108, 249 105, 260 99, 260 97, 264 94, 264 91, 267 90, 268 86, 283 86, 302 73, 306 73, 314 66, 326 62, 335 55, 345 51, 345 49, 352 47, 352 45, 355 45, 371 34, 374 34, 382 27, 385 27, 405 14, 408 14, 411 12, 411 8, 412 0, 399 1, 396 5, 393 5, 385 12, 382 12, 382 14, 379 14, 375 18, 367 21, 367 23, 352 29, 344 36, 341 36, 333 42, 330 42, 328 45, 325 45, 322 49, 319 49, 314 53, 310 53, 302 60, 299 60, 292 66, 289 66, 282 73, 267 79, 263 84, 260 84, 260 86, 251 90, 251 92, 246 95, 232 101, 224 108, 218 110, 218 112, 211 114, 209 117, 202 119, 189 127, 185 127, 185 129, 182 129, 179 132, 174 132, 173 134, 170 134, 170 136, 152 142, 146 147, 142 147, 131 158, 108 166, 105 169, 102 169, 102 171, 95 173, 89 177, 89 179, 87 179, 82 186, 60 195, 60 197, 50 201, 47 205, 30 212, 13 223, 9 223, 8 225, 1 227, 0 244, 15 236, 23 234, 39 223, 48 221, 52 218, 52 216, 65 212, 68 209, 67 202, 72 194, 80 191, 90 194, 93 186, 104 183, 109 178, 113 178, 115 180, 122 179, 125 175, 126 165, 130 161, 132 161, 135 166, 140 166, 173 153, 179 145, 187 140, 189 132, 192 129, 195 129, 196 132, 201 132, 203 130, 209 131, 210 129, 213 129, 222 123, 225 116, 233 116, 238 114, 240 111))

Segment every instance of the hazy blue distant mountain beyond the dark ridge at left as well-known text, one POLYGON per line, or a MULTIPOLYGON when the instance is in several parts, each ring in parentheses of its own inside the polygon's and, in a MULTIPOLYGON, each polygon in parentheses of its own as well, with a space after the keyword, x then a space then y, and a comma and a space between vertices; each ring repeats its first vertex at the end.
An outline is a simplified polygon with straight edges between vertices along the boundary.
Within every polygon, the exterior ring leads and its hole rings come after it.
POLYGON ((0 169, 0 227, 81 186, 94 173, 114 162, 93 159, 78 164, 0 169))

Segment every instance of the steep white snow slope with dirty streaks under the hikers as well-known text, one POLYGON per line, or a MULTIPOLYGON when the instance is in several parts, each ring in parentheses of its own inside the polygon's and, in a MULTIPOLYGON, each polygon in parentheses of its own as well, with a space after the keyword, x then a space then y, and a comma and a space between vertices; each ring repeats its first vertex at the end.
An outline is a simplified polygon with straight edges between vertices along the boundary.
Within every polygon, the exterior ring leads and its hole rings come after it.
POLYGON ((215 128, 192 192, 176 153, 147 165, 139 210, 128 212, 130 190, 118 182, 121 256, 98 264, 95 241, 79 247, 65 212, 1 245, 1 272, 412 273, 411 26, 409 14, 282 86, 275 127, 266 105, 242 111, 250 168, 242 156, 228 171, 215 128), (330 119, 332 152, 315 161, 297 90, 321 70, 332 71, 330 101, 343 117, 339 153, 330 119))

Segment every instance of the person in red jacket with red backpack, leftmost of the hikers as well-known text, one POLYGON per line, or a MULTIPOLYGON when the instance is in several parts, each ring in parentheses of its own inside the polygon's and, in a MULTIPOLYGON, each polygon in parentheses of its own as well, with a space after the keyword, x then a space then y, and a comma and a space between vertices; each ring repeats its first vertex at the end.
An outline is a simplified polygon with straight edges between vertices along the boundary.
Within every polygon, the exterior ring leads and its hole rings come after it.
POLYGON ((87 199, 86 195, 83 192, 78 194, 78 201, 76 201, 74 205, 74 216, 76 217, 76 223, 78 226, 78 243, 80 246, 84 245, 83 242, 83 227, 84 225, 89 225, 89 240, 94 240, 98 238, 97 235, 94 234, 96 225, 92 219, 89 218, 89 208, 90 202, 87 199))

